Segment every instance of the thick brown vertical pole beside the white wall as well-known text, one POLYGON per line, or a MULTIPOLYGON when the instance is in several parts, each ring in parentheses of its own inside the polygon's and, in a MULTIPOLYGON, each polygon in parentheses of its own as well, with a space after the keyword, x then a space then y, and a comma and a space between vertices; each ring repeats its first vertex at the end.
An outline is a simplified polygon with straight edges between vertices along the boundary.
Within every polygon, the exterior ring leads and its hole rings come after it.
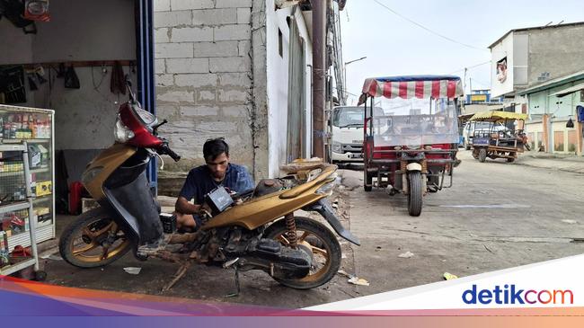
POLYGON ((326 13, 330 0, 312 1, 313 6, 313 156, 324 159, 326 13))

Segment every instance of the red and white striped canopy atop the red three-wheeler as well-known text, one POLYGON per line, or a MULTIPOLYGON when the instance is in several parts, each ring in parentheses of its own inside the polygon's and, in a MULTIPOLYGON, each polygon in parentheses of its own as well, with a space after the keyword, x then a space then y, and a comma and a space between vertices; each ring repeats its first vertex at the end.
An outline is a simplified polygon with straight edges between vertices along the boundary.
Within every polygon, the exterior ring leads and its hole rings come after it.
POLYGON ((359 105, 370 97, 456 98, 463 95, 460 77, 454 75, 412 75, 367 78, 359 105))

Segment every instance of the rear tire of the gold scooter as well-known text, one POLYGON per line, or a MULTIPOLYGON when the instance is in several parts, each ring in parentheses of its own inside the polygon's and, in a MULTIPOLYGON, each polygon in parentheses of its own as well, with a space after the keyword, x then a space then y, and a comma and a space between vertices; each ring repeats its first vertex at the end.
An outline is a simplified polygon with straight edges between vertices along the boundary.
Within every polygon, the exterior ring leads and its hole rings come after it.
MULTIPOLYGON (((322 286, 334 278, 341 267, 341 244, 339 244, 337 237, 332 231, 323 224, 308 217, 295 217, 295 220, 296 231, 309 233, 310 235, 307 235, 306 239, 310 237, 313 237, 313 240, 318 239, 317 241, 311 241, 309 244, 313 247, 320 246, 318 247, 320 250, 326 251, 328 255, 326 256, 326 262, 321 270, 314 272, 314 274, 309 274, 302 279, 274 279, 284 286, 296 289, 310 289, 322 286)), ((280 235, 286 234, 287 232, 286 223, 282 219, 268 226, 263 236, 264 238, 278 240, 280 235)), ((319 253, 313 251, 314 254, 319 253)))

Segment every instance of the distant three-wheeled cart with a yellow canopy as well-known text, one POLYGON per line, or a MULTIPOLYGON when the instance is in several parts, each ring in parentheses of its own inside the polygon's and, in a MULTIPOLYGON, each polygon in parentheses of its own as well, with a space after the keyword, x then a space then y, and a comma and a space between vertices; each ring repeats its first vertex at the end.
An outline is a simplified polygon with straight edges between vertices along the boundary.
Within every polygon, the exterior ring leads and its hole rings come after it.
POLYGON ((523 129, 516 129, 518 120, 525 122, 527 114, 509 111, 482 111, 470 121, 483 122, 482 129, 474 129, 473 157, 483 163, 491 159, 506 158, 513 162, 523 148, 528 147, 523 129), (502 128, 502 129, 501 129, 502 128))

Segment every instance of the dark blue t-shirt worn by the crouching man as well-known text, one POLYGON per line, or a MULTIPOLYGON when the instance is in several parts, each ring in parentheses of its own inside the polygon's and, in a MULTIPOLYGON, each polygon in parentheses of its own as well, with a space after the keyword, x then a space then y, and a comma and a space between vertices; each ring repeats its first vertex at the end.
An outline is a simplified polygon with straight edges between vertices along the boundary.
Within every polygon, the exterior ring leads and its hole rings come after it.
POLYGON ((245 166, 228 164, 226 177, 223 182, 216 182, 208 170, 207 165, 200 165, 190 170, 187 180, 182 185, 179 196, 189 200, 194 199, 195 204, 202 204, 205 195, 219 186, 228 188, 230 191, 243 192, 252 190, 255 187, 252 176, 245 166))

